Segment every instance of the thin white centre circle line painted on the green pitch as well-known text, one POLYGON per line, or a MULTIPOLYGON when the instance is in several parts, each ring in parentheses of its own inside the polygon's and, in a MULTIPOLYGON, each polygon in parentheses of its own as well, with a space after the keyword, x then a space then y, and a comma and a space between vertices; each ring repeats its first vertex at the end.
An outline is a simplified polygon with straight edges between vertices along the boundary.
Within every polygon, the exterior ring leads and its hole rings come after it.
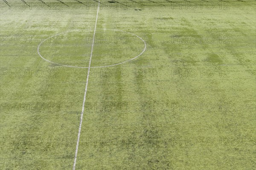
MULTIPOLYGON (((115 30, 115 29, 97 29, 97 30, 111 30, 111 31, 119 31, 119 32, 124 32, 124 33, 128 33, 128 34, 132 34, 132 33, 127 32, 127 31, 120 31, 120 30, 115 30)), ((73 30, 73 31, 81 31, 81 30, 73 30)), ((67 32, 73 32, 73 31, 67 31, 67 32)), ((53 35, 52 37, 57 36, 57 35, 61 35, 61 34, 65 34, 65 33, 67 33, 67 32, 63 32, 63 33, 60 33, 60 34, 55 34, 55 35, 53 35)), ((136 34, 132 34, 132 35, 138 37, 140 40, 142 40, 142 41, 144 42, 144 49, 143 49, 143 51, 142 51, 139 55, 137 55, 137 56, 134 57, 134 58, 128 59, 128 60, 126 60, 126 61, 124 61, 124 62, 117 63, 117 64, 113 64, 113 65, 103 65, 103 66, 93 66, 93 67, 91 67, 91 68, 111 67, 111 66, 115 66, 115 65, 119 65, 119 64, 122 64, 122 63, 125 63, 125 62, 128 62, 128 61, 131 61, 131 60, 133 60, 133 59, 136 59, 137 57, 140 57, 140 56, 145 52, 145 50, 146 50, 146 47, 147 47, 146 42, 145 42, 141 37, 137 36, 136 34)), ((42 41, 42 42, 38 45, 38 55, 39 55, 42 59, 44 59, 44 60, 47 61, 47 62, 51 62, 51 63, 53 63, 53 64, 61 65, 61 66, 65 66, 65 67, 72 67, 72 68, 88 68, 88 67, 80 67, 80 66, 76 66, 76 65, 64 65, 64 64, 59 64, 59 63, 56 63, 56 62, 52 62, 52 61, 50 61, 50 60, 48 60, 48 59, 45 59, 45 58, 40 54, 39 48, 40 48, 40 46, 41 46, 41 44, 42 44, 43 42, 47 41, 48 39, 50 39, 50 38, 52 38, 52 37, 49 37, 49 38, 45 39, 44 41, 42 41)))

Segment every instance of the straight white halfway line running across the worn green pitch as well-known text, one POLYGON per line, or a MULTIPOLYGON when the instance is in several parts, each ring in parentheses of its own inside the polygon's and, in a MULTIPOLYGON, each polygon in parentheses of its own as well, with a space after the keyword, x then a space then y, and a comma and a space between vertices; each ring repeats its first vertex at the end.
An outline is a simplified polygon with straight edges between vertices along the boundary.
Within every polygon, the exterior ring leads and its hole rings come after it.
POLYGON ((76 158, 77 158, 79 139, 80 139, 80 133, 81 133, 81 127, 82 127, 82 121, 83 121, 83 115, 84 115, 84 104, 85 104, 86 92, 87 92, 87 86, 88 86, 88 80, 89 80, 89 74, 90 74, 90 64, 91 64, 92 56, 93 56, 94 37, 95 37, 95 32, 96 32, 98 14, 99 14, 99 4, 98 4, 96 22, 95 22, 94 33, 93 33, 93 43, 92 43, 92 48, 91 48, 91 53, 90 53, 90 61, 89 61, 88 72, 87 72, 87 79, 86 79, 86 85, 85 85, 85 91, 84 91, 83 107, 82 107, 82 112, 81 112, 81 116, 80 116, 80 124, 79 124, 79 130, 78 130, 77 141, 76 141, 76 153, 75 153, 75 159, 74 159, 74 164, 73 164, 73 170, 76 169, 76 158))

